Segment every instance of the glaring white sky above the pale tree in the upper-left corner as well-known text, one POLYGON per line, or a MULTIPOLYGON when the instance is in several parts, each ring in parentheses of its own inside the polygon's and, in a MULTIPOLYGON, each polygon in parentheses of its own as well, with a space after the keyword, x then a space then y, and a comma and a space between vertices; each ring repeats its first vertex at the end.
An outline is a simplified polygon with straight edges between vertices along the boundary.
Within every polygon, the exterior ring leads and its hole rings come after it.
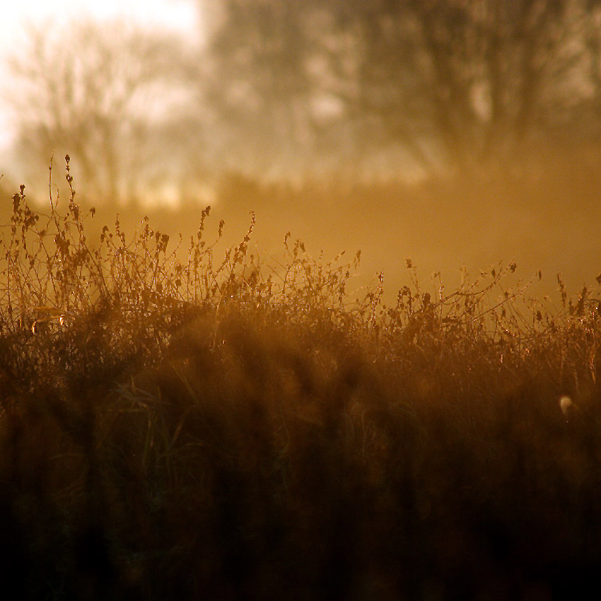
MULTIPOLYGON (((28 25, 65 25, 89 18, 103 21, 124 18, 148 28, 198 34, 193 0, 13 0, 3 2, 0 18, 0 83, 10 86, 6 57, 25 39, 28 25)), ((6 151, 11 126, 0 98, 0 151, 6 151)))

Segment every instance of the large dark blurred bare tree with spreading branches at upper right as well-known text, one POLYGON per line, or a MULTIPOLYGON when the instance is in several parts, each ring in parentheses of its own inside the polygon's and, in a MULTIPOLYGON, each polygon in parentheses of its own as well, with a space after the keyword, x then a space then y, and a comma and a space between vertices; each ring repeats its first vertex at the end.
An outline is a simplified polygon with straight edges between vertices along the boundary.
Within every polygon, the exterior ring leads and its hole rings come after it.
MULTIPOLYGON (((431 119, 460 163, 507 158, 559 127, 581 98, 577 1, 416 3, 431 119)), ((424 96, 422 94, 422 96, 424 96)))

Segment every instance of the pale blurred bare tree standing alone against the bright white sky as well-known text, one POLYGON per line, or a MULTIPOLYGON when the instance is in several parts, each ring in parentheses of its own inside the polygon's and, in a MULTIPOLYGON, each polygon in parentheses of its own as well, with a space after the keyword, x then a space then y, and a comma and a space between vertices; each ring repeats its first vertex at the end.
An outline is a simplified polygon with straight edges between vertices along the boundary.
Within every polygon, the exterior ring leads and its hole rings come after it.
POLYGON ((28 179, 39 180, 53 152, 69 153, 88 196, 132 194, 149 166, 165 159, 153 129, 160 123, 164 132, 165 122, 177 120, 185 57, 173 37, 120 21, 56 35, 30 30, 11 59, 16 146, 28 179))

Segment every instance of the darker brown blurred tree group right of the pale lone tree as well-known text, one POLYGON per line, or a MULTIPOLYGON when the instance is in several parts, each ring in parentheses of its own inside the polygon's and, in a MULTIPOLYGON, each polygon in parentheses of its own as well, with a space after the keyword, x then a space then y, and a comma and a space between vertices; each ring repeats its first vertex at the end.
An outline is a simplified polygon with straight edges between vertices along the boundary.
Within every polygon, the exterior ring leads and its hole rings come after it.
POLYGON ((249 139, 269 132, 277 146, 310 140, 352 158, 398 145, 421 165, 465 166, 599 120, 597 0, 222 7, 213 92, 249 139))

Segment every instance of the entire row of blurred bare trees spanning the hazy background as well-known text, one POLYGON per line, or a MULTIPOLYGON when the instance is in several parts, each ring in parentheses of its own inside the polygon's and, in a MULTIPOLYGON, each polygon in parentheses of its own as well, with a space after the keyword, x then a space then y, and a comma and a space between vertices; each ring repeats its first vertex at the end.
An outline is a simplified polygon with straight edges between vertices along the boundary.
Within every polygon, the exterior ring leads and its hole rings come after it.
POLYGON ((86 189, 131 198, 166 173, 190 187, 387 156, 395 175, 599 134, 601 0, 194 1, 204 45, 124 25, 30 33, 11 92, 28 176, 69 152, 86 189))

